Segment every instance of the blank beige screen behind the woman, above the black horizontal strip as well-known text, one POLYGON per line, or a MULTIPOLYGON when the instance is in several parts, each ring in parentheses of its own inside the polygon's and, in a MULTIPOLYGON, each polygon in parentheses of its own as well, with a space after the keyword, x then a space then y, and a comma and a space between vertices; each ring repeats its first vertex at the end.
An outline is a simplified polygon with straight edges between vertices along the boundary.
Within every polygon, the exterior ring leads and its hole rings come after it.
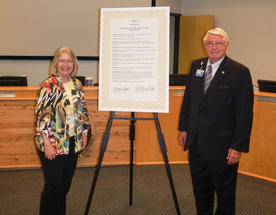
POLYGON ((150 6, 150 0, 1 0, 0 53, 49 56, 69 46, 78 56, 97 56, 100 8, 150 6))

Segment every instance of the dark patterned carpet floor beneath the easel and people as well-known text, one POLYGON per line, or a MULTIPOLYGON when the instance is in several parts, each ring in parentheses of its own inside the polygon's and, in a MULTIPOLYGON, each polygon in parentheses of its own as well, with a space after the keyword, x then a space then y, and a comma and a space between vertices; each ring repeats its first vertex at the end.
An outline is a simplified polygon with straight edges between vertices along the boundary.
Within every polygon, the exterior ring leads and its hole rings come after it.
MULTIPOLYGON (((189 166, 170 165, 182 215, 196 214, 189 166)), ((95 167, 79 167, 67 196, 67 214, 84 214, 95 167)), ((41 169, 0 171, 0 214, 34 215, 43 188, 41 169)), ((133 205, 129 205, 129 166, 101 167, 89 214, 176 214, 165 165, 137 165, 133 205)), ((238 175, 237 215, 275 215, 276 183, 238 175)))

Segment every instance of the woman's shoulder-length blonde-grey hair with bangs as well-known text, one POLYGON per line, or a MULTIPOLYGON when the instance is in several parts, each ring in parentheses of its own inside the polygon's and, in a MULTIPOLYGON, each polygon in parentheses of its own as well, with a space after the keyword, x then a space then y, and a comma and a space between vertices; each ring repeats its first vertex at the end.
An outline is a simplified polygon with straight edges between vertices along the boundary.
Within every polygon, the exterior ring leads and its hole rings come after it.
POLYGON ((63 52, 67 52, 72 60, 74 61, 74 68, 72 73, 70 74, 70 77, 73 78, 78 74, 78 59, 76 58, 76 55, 74 52, 68 48, 68 47, 60 47, 55 51, 54 54, 54 59, 51 65, 50 73, 53 76, 58 76, 58 71, 57 71, 57 61, 59 60, 60 56, 62 55, 63 52))

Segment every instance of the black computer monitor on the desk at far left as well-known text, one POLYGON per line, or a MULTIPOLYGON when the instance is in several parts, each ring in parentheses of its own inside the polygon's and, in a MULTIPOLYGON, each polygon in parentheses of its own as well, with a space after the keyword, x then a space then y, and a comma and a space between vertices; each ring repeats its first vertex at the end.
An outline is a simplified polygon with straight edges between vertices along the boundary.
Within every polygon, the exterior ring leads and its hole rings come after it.
POLYGON ((27 76, 26 75, 0 75, 0 86, 1 87, 27 87, 27 76))

